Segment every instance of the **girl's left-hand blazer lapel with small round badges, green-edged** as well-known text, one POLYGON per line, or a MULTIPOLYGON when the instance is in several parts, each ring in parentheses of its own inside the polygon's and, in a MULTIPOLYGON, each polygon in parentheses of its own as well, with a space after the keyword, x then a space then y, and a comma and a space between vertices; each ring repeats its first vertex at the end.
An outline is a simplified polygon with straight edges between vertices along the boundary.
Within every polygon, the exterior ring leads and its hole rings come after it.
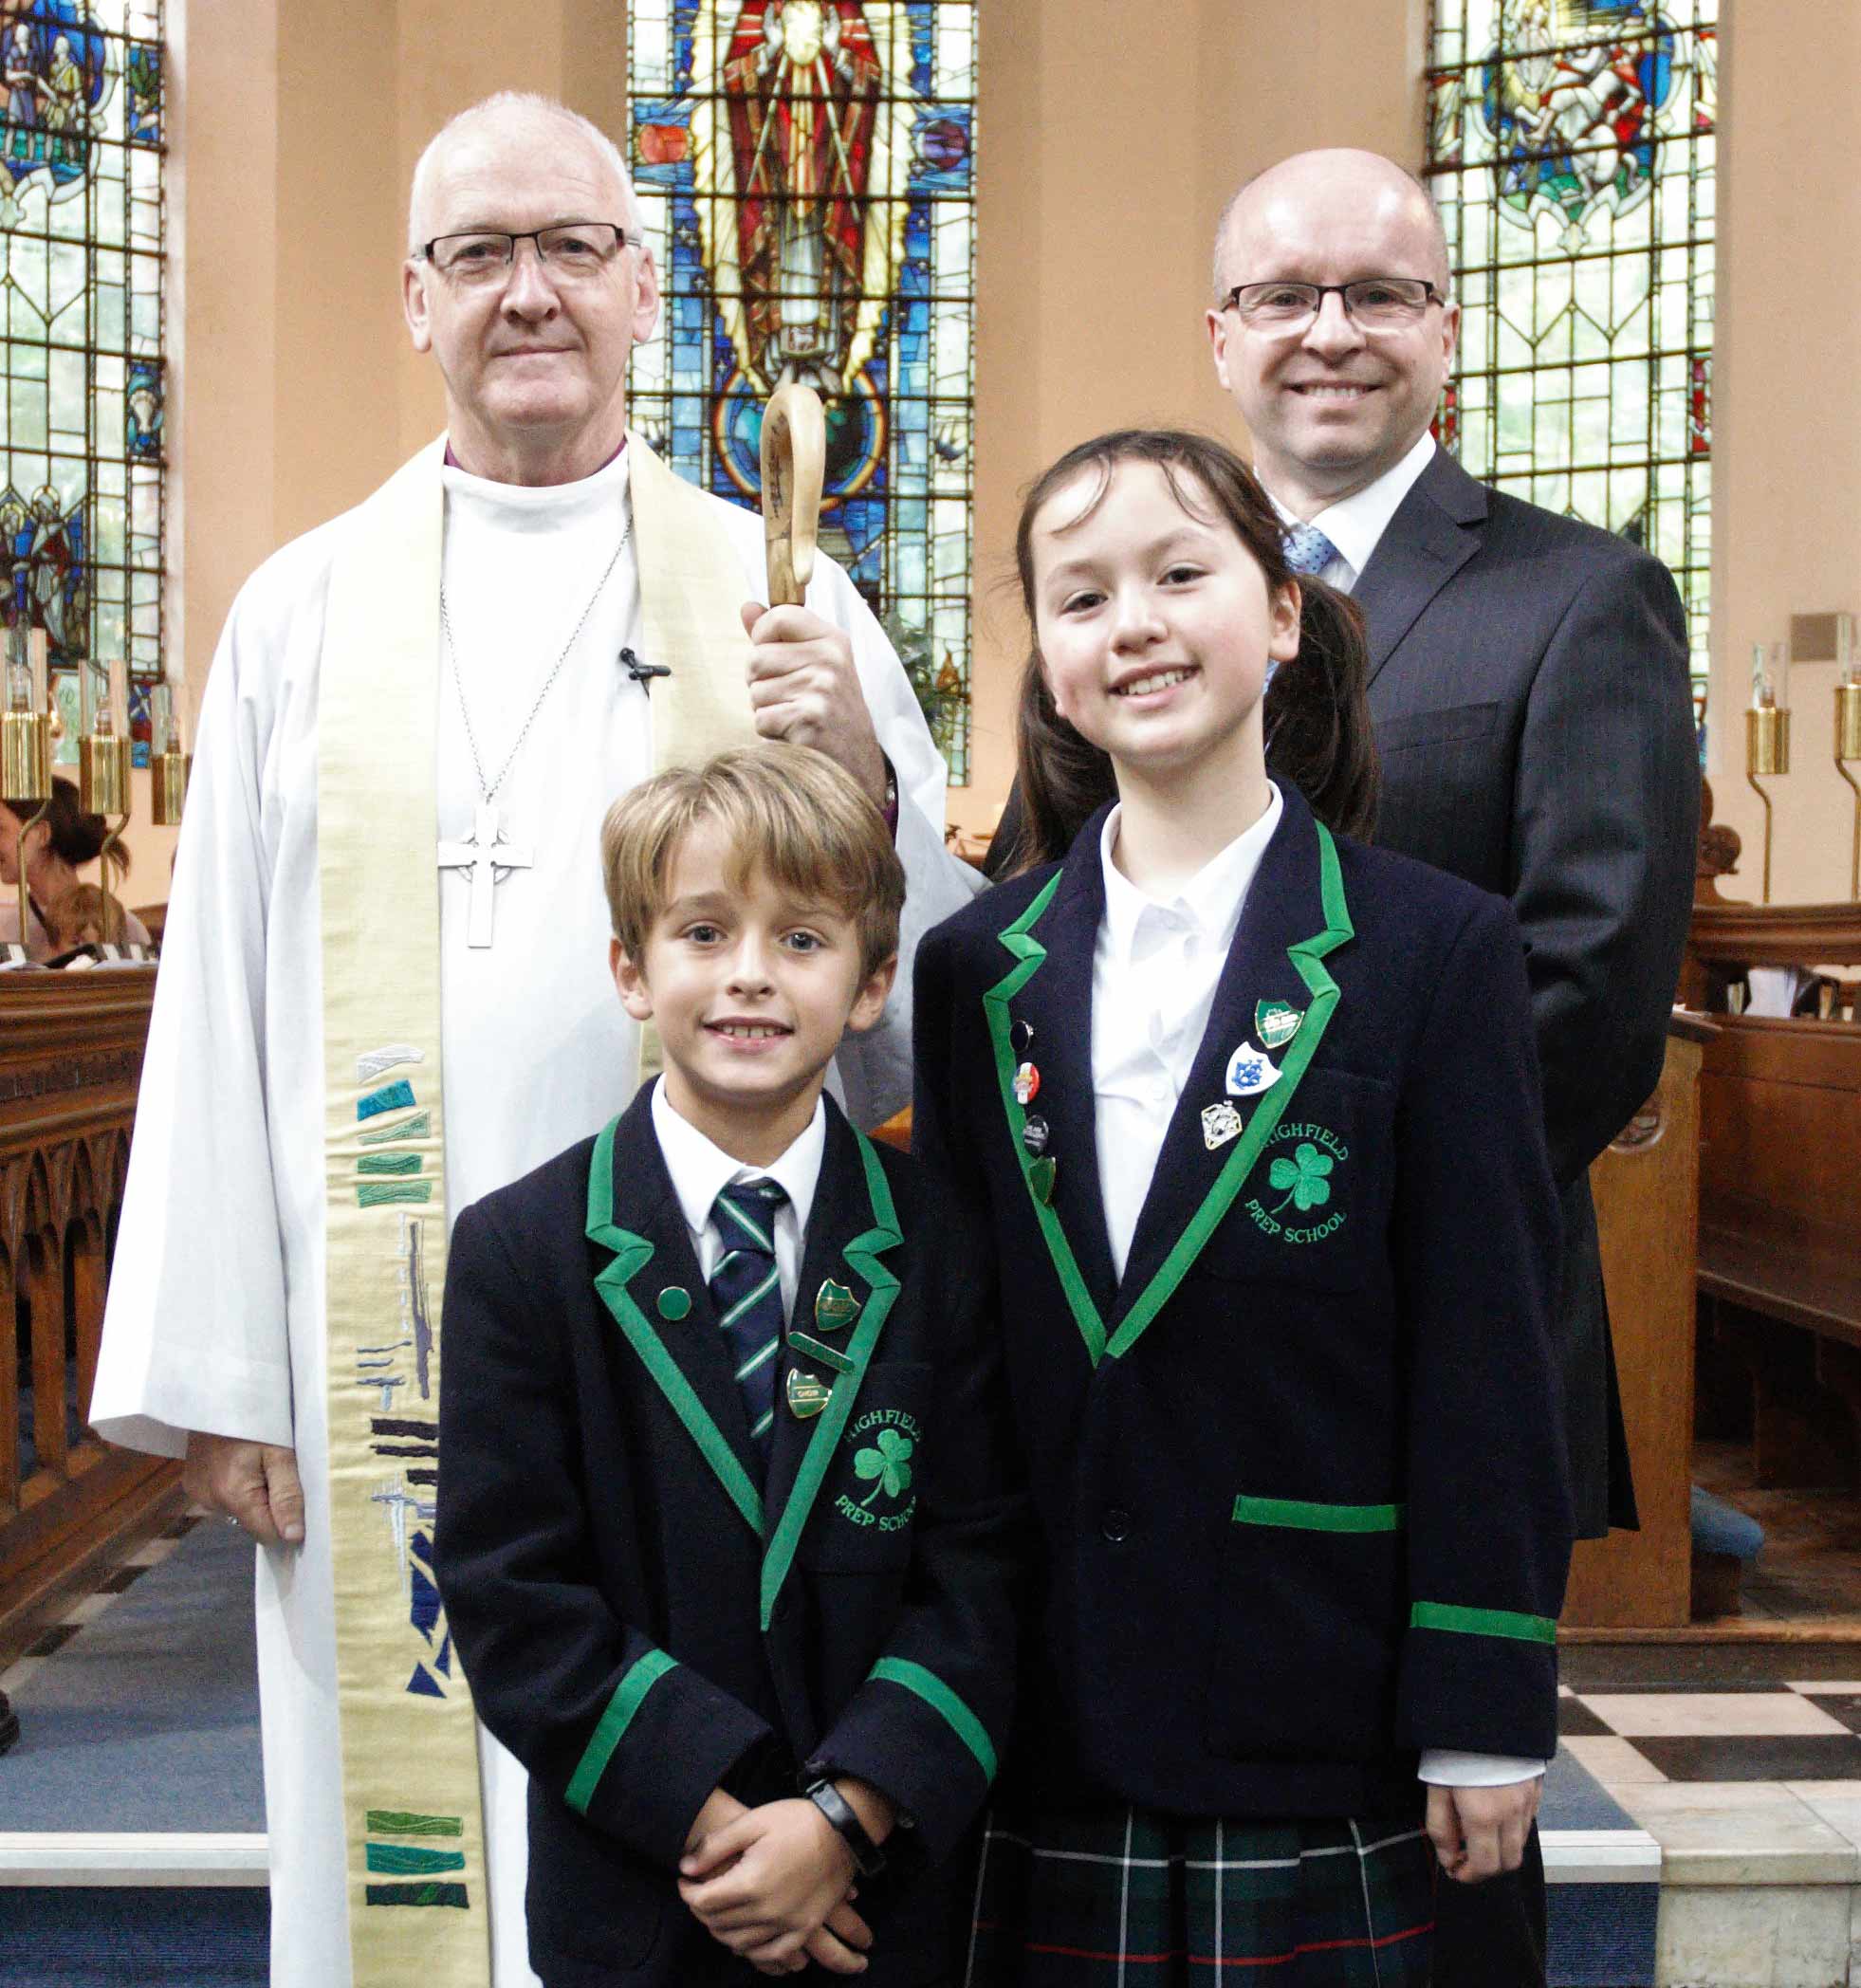
POLYGON ((982 996, 994 1050, 988 1077, 1000 1097, 1006 1137, 1094 1364, 1105 1350, 1103 1318, 1117 1290, 1092 1091, 1092 960, 1105 911, 1100 863, 1105 813, 1100 809, 1086 823, 1048 889, 996 934, 1014 964, 982 996), (1026 1105, 1014 1097, 1014 1072, 1022 1062, 1040 1072, 1040 1095, 1026 1105), (1044 1119, 1048 1127, 1044 1157, 1054 1161, 1054 1181, 1046 1201, 1036 1191, 1036 1155, 1022 1137, 1028 1119, 1044 1119))

